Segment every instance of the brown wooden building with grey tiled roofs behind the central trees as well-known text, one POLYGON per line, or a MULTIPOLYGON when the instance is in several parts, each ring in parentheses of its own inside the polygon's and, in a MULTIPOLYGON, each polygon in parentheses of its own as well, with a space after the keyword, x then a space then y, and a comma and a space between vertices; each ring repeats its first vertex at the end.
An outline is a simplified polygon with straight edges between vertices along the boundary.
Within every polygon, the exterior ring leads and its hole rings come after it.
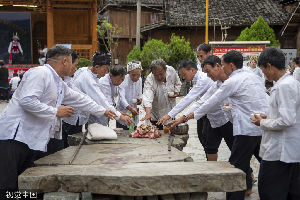
MULTIPOLYGON (((209 0, 208 40, 234 41, 244 28, 250 28, 261 15, 273 28, 276 39, 280 41, 283 48, 285 40, 279 32, 286 23, 289 13, 284 9, 285 7, 280 6, 280 3, 279 0, 262 2, 209 0), (220 22, 222 28, 228 27, 229 23, 231 28, 222 31, 220 22), (226 37, 224 37, 225 34, 226 37)), ((190 40, 191 48, 195 49, 205 42, 205 6, 203 0, 142 0, 141 45, 152 38, 169 43, 171 34, 175 33, 190 40), (156 20, 152 19, 154 15, 158 16, 156 20)), ((113 56, 118 57, 120 63, 125 63, 128 53, 135 45, 135 2, 102 0, 98 16, 98 23, 107 19, 111 24, 117 24, 123 28, 123 33, 116 36, 119 38, 119 47, 113 56)))

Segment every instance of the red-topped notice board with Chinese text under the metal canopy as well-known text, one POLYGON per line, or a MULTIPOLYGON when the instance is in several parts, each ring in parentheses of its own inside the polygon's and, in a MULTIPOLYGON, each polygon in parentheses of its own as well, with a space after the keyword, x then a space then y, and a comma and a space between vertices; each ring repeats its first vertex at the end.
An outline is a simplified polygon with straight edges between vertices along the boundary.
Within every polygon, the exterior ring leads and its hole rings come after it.
POLYGON ((230 46, 230 47, 215 47, 214 55, 222 57, 228 51, 236 50, 243 53, 244 63, 247 64, 251 59, 257 61, 259 54, 265 50, 265 46, 230 46))

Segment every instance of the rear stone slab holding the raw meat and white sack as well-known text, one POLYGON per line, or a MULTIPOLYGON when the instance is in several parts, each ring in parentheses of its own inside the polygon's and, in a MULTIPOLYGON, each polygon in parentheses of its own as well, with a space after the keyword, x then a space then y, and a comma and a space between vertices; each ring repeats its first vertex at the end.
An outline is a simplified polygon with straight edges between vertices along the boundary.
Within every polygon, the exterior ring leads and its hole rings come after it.
MULTIPOLYGON (((164 134, 161 131, 161 137, 150 139, 150 138, 136 138, 136 137, 129 137, 129 130, 123 131, 121 135, 118 135, 118 140, 95 140, 91 141, 85 139, 83 145, 90 145, 90 144, 169 144, 169 134, 164 134)), ((78 133, 68 136, 68 143, 70 146, 78 146, 82 136, 84 133, 78 133)), ((183 147, 187 144, 187 140, 189 138, 188 134, 184 135, 176 135, 174 137, 172 146, 176 149, 182 151, 183 147)))

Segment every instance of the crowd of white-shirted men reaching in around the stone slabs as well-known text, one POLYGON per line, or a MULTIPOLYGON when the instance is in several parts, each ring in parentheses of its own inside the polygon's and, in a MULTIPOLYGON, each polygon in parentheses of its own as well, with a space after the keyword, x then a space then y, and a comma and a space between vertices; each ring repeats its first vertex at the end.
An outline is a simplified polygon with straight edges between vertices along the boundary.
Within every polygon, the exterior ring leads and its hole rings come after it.
POLYGON ((165 123, 170 127, 194 118, 206 159, 217 160, 224 138, 231 151, 229 162, 246 173, 247 190, 227 192, 227 199, 244 199, 252 193, 252 155, 260 162, 260 199, 300 199, 300 83, 285 71, 283 52, 267 48, 259 56, 260 69, 254 67, 256 60, 249 69, 241 52, 232 50, 219 58, 210 50, 203 43, 196 49, 198 65, 184 59, 177 66, 194 86, 176 105, 182 83, 164 60, 151 63, 142 93, 140 61, 128 62, 127 69, 110 67, 111 54, 95 52, 93 66, 76 71, 76 52, 52 47, 47 64, 23 75, 0 115, 0 190, 17 189, 18 175, 34 166, 34 160, 68 147, 67 136, 82 132, 83 125, 106 126, 117 120, 117 128, 128 129, 129 124, 136 128, 139 121, 147 120, 162 129, 165 123), (253 73, 257 70, 274 81, 270 96, 264 76, 253 73), (138 105, 146 110, 141 120, 138 105), (229 112, 224 105, 230 106, 229 112), (250 119, 252 113, 255 120, 250 119))

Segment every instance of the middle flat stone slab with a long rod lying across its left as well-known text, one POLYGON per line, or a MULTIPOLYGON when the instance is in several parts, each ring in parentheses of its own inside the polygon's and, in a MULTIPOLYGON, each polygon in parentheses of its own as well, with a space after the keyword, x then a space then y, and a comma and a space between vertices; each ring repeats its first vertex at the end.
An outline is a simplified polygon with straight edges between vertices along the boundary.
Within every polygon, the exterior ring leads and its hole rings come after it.
MULTIPOLYGON (((35 161, 35 166, 58 166, 69 164, 77 146, 70 146, 35 161)), ((121 164, 149 162, 184 162, 193 159, 164 144, 95 144, 83 145, 72 164, 121 164)))

